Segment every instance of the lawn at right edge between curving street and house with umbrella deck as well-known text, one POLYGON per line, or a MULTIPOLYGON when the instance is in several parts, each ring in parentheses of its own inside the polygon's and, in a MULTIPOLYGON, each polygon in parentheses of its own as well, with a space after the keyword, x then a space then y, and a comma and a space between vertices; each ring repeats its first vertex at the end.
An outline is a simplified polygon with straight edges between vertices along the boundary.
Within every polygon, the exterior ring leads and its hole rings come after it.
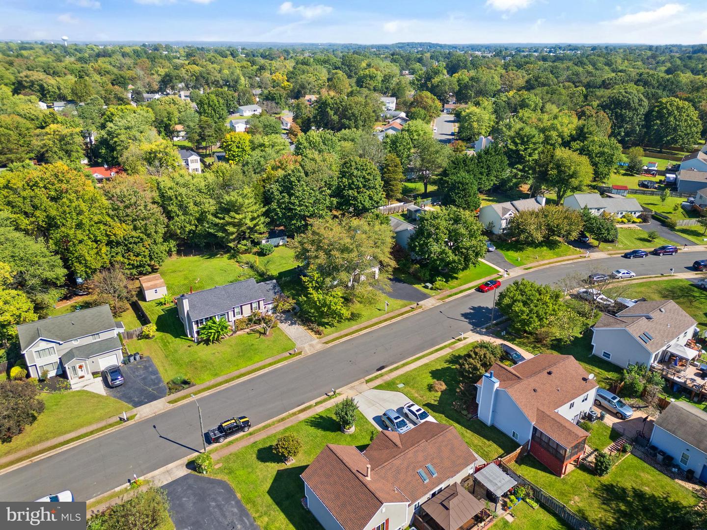
MULTIPOLYGON (((609 289, 609 296, 611 296, 609 289)), ((707 327, 707 291, 695 287, 686 279, 662 279, 626 285, 621 296, 647 300, 674 300, 701 328, 707 327)))

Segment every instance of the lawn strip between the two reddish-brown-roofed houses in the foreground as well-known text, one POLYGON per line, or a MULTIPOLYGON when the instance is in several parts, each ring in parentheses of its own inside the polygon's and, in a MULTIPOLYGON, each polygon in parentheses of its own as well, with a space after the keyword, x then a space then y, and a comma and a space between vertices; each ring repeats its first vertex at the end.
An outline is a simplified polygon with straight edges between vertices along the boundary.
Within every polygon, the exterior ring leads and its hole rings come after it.
POLYGON ((464 418, 460 412, 452 409, 452 403, 457 399, 457 387, 459 387, 456 362, 463 351, 466 350, 452 351, 376 388, 403 392, 430 411, 437 421, 454 426, 464 442, 467 442, 481 458, 489 461, 501 454, 514 451, 518 444, 497 428, 486 426, 478 419, 464 418), (444 381, 447 390, 433 392, 430 385, 436 380, 444 381), (404 386, 398 387, 401 383, 404 386))

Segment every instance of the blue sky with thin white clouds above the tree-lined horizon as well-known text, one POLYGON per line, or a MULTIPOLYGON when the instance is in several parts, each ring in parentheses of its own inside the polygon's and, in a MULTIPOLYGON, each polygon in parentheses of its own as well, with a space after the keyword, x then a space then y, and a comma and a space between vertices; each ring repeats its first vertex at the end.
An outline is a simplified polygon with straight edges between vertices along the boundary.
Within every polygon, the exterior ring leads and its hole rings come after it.
POLYGON ((2 0, 0 39, 707 42, 707 3, 638 0, 2 0))

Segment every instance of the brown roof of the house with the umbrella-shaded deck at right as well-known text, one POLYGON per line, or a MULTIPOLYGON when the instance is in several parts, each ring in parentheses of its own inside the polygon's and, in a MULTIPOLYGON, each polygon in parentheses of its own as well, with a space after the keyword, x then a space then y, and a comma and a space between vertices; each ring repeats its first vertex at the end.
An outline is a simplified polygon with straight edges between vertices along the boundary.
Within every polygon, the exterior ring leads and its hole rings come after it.
POLYGON ((638 302, 617 313, 616 317, 602 315, 594 328, 624 328, 648 348, 648 351, 655 353, 675 337, 684 333, 690 326, 696 324, 696 320, 685 313, 674 301, 652 300, 638 302), (640 338, 640 335, 645 332, 653 337, 648 343, 640 338))

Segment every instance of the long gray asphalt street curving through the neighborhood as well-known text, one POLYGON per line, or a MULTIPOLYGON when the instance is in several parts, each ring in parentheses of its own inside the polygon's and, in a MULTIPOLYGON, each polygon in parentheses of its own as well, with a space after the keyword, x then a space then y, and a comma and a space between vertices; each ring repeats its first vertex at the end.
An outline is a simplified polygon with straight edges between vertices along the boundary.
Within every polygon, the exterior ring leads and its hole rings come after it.
MULTIPOLYGON (((554 284, 567 275, 588 275, 626 267, 637 275, 691 270, 707 252, 649 256, 642 260, 589 258, 575 260, 522 277, 554 284)), ((505 282, 504 282, 505 284, 505 282)), ((503 286, 501 287, 503 288, 503 286)), ((286 366, 199 398, 204 428, 236 414, 246 414, 254 425, 296 409, 364 378, 458 337, 460 332, 489 323, 493 293, 469 294, 413 313, 395 323, 366 332, 305 356, 286 366)), ((78 412, 78 411, 77 411, 78 412)), ((0 476, 1 500, 34 500, 49 493, 71 490, 76 500, 88 500, 127 484, 133 474, 144 476, 201 448, 197 405, 187 401, 145 421, 83 442, 0 476)))

